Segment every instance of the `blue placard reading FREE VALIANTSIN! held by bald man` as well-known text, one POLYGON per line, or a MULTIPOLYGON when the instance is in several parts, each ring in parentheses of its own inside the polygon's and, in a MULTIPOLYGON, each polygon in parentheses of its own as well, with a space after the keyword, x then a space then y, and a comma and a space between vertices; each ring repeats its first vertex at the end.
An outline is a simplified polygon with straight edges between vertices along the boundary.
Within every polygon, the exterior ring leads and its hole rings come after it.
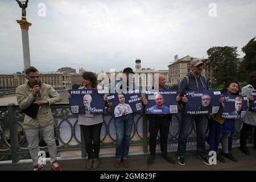
POLYGON ((146 91, 146 114, 175 114, 178 113, 176 101, 177 90, 146 91))

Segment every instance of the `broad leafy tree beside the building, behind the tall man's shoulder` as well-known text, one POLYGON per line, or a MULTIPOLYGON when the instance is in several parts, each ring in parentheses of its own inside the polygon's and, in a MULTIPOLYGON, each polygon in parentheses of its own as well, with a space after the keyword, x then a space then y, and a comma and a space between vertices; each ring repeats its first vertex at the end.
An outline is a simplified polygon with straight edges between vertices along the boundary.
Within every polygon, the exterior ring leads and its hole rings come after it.
POLYGON ((208 59, 205 65, 212 71, 212 88, 237 78, 237 47, 212 47, 207 51, 208 59))

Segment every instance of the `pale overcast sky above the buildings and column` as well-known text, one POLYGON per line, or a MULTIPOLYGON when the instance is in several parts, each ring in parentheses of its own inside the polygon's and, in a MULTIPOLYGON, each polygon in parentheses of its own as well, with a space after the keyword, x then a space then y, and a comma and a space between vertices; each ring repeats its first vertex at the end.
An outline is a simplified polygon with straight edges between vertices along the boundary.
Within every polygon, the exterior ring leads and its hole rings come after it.
MULTIPOLYGON (((21 9, 0 1, 0 74, 22 71, 21 9)), ((255 9, 255 0, 30 0, 31 65, 98 73, 135 68, 141 59, 144 68, 167 69, 174 55, 207 57, 213 46, 238 47, 242 57, 256 36, 255 9)))

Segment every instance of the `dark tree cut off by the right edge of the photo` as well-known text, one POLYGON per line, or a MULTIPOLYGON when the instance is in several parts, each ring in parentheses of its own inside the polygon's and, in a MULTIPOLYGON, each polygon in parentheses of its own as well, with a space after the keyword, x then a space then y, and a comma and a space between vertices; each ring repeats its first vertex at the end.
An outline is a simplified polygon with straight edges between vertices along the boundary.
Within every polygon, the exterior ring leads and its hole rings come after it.
POLYGON ((251 39, 242 51, 245 53, 243 64, 245 65, 247 73, 256 71, 256 39, 251 39))

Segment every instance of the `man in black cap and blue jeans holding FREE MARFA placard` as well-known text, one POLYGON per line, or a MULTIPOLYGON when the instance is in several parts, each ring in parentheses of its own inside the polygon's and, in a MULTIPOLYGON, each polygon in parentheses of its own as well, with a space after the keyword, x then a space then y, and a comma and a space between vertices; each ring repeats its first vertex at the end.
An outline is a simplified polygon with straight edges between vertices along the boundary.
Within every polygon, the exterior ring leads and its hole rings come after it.
MULTIPOLYGON (((125 68, 123 69, 123 79, 119 81, 115 88, 121 89, 123 92, 127 90, 134 90, 135 84, 133 82, 133 69, 125 68), (123 88, 123 86, 127 86, 127 89, 123 88)), ((110 103, 112 105, 112 103, 110 103)), ((130 137, 131 137, 131 129, 133 128, 133 113, 122 115, 121 117, 114 118, 115 122, 115 131, 117 139, 115 140, 115 167, 121 167, 121 161, 123 162, 123 166, 128 168, 130 166, 130 162, 127 158, 129 153, 130 146, 130 137)))

